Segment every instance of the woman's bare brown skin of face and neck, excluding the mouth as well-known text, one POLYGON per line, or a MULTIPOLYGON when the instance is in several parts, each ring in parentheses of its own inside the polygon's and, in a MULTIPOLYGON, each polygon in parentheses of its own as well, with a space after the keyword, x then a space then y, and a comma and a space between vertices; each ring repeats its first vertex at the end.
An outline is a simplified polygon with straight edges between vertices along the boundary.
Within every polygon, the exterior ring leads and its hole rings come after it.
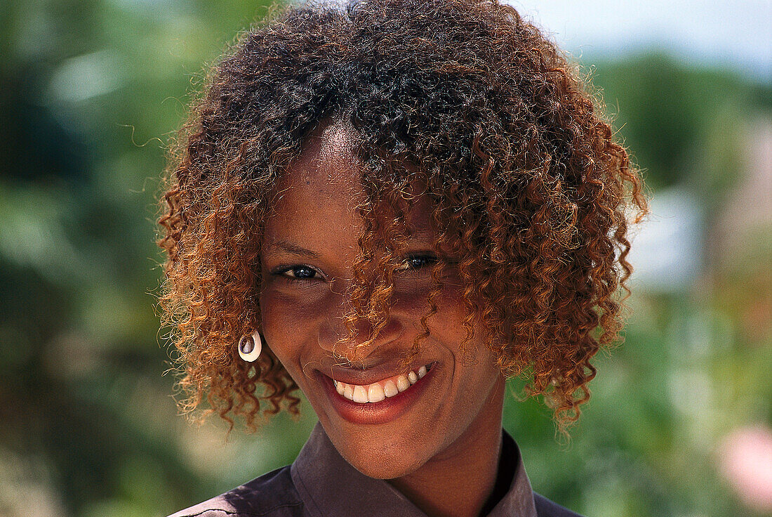
MULTIPOLYGON (((462 364, 465 308, 452 268, 443 278, 438 313, 429 320, 431 335, 412 363, 433 363, 432 378, 407 411, 385 423, 352 423, 320 382, 322 373, 334 377, 341 369, 388 372, 383 377, 404 372, 398 362, 420 332, 432 288, 431 267, 412 260, 395 273, 391 316, 375 342, 359 349, 353 362, 347 360, 353 350, 338 345, 333 352, 344 335, 342 317, 350 307, 344 293, 363 224, 356 210, 363 196, 359 164, 349 135, 339 124, 324 125, 279 182, 282 193, 262 242, 263 336, 354 468, 388 480, 428 515, 479 515, 496 481, 505 381, 482 345, 480 328, 477 361, 462 364)), ((428 198, 419 196, 409 219, 415 232, 408 257, 432 255, 428 209, 428 198)), ((357 330, 364 341, 369 329, 357 330)))

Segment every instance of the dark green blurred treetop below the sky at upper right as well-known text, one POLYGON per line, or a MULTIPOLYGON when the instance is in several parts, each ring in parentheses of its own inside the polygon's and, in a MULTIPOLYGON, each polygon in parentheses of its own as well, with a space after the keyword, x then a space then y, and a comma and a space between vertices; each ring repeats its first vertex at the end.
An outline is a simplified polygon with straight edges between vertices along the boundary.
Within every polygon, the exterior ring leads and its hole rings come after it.
POLYGON ((695 153, 719 151, 721 143, 709 141, 716 132, 731 139, 750 112, 770 107, 768 84, 729 70, 695 69, 665 53, 594 63, 588 70, 652 189, 703 182, 695 153))

